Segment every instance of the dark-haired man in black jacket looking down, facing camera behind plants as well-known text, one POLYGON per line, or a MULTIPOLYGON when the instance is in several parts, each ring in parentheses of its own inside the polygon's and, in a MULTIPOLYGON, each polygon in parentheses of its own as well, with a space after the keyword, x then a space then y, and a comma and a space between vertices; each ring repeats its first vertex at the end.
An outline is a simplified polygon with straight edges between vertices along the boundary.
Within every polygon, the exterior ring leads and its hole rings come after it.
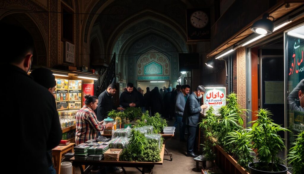
POLYGON ((127 89, 121 93, 119 98, 119 104, 123 107, 139 107, 140 100, 138 95, 133 92, 133 83, 127 84, 127 89))

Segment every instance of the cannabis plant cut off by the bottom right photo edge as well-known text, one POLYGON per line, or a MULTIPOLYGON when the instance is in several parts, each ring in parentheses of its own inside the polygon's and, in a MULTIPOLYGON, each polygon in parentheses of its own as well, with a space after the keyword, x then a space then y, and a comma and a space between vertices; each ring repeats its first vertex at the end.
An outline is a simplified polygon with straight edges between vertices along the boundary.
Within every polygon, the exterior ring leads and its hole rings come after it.
POLYGON ((294 174, 301 174, 304 171, 304 131, 298 134, 298 138, 292 143, 288 158, 288 165, 292 165, 292 172, 294 174))

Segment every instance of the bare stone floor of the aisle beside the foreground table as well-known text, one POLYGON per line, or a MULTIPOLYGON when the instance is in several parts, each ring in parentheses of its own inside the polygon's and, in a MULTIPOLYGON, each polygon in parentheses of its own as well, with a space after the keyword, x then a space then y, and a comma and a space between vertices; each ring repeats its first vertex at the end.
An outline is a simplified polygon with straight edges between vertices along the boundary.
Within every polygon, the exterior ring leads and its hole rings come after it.
MULTIPOLYGON (((173 126, 174 120, 170 120, 168 125, 173 126)), ((171 140, 167 140, 166 148, 169 152, 173 153, 173 160, 170 161, 169 156, 164 156, 163 165, 155 165, 153 174, 188 174, 188 173, 200 173, 195 169, 195 161, 192 157, 187 157, 186 145, 187 142, 179 141, 178 128, 175 129, 175 137, 171 140)), ((140 174, 141 172, 135 168, 125 168, 128 174, 140 174)), ((76 174, 80 174, 79 168, 75 170, 76 174)), ((123 172, 122 172, 123 173, 123 172)))

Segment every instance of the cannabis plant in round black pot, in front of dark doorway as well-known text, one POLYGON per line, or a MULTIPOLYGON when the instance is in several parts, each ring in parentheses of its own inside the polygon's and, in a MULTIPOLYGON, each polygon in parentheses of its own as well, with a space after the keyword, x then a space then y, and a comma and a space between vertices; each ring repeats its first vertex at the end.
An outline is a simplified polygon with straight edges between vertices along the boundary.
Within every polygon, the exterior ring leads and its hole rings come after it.
POLYGON ((273 123, 270 119, 271 112, 267 109, 259 109, 258 119, 250 123, 252 125, 252 147, 257 151, 258 162, 248 164, 250 174, 286 174, 287 167, 282 165, 279 158, 280 151, 285 149, 283 139, 278 135, 279 131, 287 129, 273 123))

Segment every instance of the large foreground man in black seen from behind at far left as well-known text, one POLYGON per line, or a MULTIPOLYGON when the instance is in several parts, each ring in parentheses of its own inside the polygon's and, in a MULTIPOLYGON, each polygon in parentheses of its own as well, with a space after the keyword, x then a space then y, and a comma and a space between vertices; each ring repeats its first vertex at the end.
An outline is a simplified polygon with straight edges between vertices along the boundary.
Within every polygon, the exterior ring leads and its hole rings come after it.
MULTIPOLYGON (((21 161, 14 173, 44 174, 48 172, 47 150, 57 146, 62 137, 54 96, 27 74, 33 59, 33 37, 24 28, 0 24, 3 82, 11 92, 4 92, 6 105, 3 124, 10 124, 10 135, 18 143, 10 144, 7 161, 21 161)), ((1 91, 7 91, 1 85, 1 91)))

